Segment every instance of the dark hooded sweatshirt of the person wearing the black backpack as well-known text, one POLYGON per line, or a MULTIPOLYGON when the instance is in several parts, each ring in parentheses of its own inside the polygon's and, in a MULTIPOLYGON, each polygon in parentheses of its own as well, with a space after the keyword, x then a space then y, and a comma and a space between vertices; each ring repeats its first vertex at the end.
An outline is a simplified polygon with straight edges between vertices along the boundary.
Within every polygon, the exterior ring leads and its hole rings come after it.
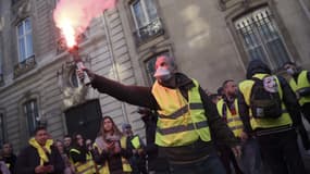
MULTIPOLYGON (((259 73, 260 74, 271 74, 271 70, 268 67, 266 64, 264 64, 260 60, 251 61, 247 69, 247 75, 246 75, 247 79, 251 79, 253 75, 259 74, 259 73)), ((286 110, 288 111, 294 125, 300 125, 301 115, 300 115, 298 100, 294 91, 292 90, 287 82, 285 80, 285 78, 283 78, 282 76, 277 76, 277 78, 280 80, 280 85, 283 91, 283 102, 286 107, 286 110)), ((252 133, 250 122, 249 122, 250 120, 249 119, 249 105, 247 105, 247 103, 245 102, 245 97, 243 92, 239 92, 238 95, 238 107, 239 107, 240 117, 245 125, 245 130, 247 133, 252 133)), ((272 128, 271 128, 271 133, 272 133, 272 128)))

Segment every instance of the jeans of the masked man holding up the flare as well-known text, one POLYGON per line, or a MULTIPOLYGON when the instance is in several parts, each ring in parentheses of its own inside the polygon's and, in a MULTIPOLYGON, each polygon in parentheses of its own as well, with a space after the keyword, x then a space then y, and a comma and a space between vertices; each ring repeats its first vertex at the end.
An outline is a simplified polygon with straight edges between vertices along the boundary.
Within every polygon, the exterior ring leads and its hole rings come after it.
POLYGON ((171 164, 172 174, 225 174, 224 166, 216 154, 190 164, 171 164))

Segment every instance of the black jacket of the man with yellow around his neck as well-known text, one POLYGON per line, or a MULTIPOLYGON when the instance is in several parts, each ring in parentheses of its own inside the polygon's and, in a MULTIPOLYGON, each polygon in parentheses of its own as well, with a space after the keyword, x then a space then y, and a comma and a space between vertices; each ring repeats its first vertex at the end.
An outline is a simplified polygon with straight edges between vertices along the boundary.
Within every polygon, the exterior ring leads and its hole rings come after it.
MULTIPOLYGON (((64 170, 64 162, 61 154, 54 146, 51 146, 51 153, 48 154, 49 163, 53 165, 54 172, 51 174, 62 174, 64 170)), ((23 149, 17 157, 16 173, 17 174, 35 174, 35 169, 40 164, 40 157, 37 149, 28 146, 23 149)))

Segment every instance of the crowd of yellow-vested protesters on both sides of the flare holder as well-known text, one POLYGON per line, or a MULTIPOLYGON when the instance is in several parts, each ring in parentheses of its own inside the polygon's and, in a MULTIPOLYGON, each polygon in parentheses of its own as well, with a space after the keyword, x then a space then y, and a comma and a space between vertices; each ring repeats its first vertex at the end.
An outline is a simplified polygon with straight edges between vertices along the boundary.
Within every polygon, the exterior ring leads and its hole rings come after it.
MULTIPOLYGON (((264 63, 253 61, 247 70, 246 80, 237 84, 234 79, 226 79, 215 94, 207 91, 209 100, 216 105, 214 108, 218 109, 221 120, 231 129, 240 147, 238 154, 227 144, 213 141, 227 174, 307 173, 297 145, 296 133, 301 136, 303 148, 308 150, 310 142, 301 115, 303 114, 309 121, 310 90, 302 90, 305 94, 296 96, 294 90, 297 89, 293 89, 293 82, 289 80, 300 82, 297 73, 302 72, 303 77, 308 78, 308 84, 303 86, 310 85, 310 73, 298 70, 292 62, 286 63, 284 70, 292 78, 285 79, 280 75, 272 75, 264 63), (265 77, 269 77, 270 82, 265 82, 265 77), (257 84, 260 82, 266 83, 263 86, 266 85, 271 94, 274 88, 276 94, 281 91, 278 101, 283 111, 276 117, 277 122, 274 122, 275 119, 268 119, 271 123, 262 123, 260 119, 252 116, 260 115, 256 113, 259 110, 252 108, 257 104, 256 101, 262 98, 257 99, 257 96, 249 94, 246 89, 251 86, 250 92, 257 92, 262 97, 265 91, 259 91, 260 86, 257 84), (306 96, 305 100, 300 100, 305 97, 302 95, 306 96)), ((141 107, 137 112, 145 123, 146 141, 134 134, 131 124, 123 123, 120 129, 113 119, 108 115, 102 117, 96 139, 88 139, 83 133, 65 135, 63 139, 52 139, 47 127, 38 126, 34 137, 28 140, 27 147, 22 149, 17 157, 11 144, 2 145, 0 174, 174 173, 169 158, 156 144, 159 113, 141 107)), ((269 112, 276 113, 271 110, 264 114, 269 112)))

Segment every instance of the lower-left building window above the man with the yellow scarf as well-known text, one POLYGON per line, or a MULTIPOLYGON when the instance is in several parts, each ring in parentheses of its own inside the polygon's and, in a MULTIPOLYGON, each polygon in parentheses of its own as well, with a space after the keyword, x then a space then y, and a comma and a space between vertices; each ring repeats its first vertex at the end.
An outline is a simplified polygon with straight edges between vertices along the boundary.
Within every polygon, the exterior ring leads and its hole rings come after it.
POLYGON ((34 133, 40 121, 37 100, 29 100, 24 103, 24 114, 26 116, 27 127, 30 135, 34 133))

